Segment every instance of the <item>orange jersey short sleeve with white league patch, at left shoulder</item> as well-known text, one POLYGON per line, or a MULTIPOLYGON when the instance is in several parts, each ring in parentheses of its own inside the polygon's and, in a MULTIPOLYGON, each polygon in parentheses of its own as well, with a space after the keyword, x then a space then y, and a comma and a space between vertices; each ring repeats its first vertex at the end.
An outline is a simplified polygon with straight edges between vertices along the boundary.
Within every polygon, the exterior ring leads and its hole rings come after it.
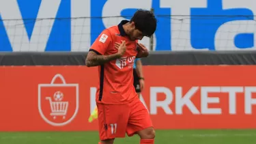
POLYGON ((104 55, 111 41, 112 41, 111 33, 105 29, 104 31, 102 31, 102 33, 100 33, 98 38, 94 41, 94 44, 91 45, 91 48, 89 51, 94 51, 100 55, 104 55))

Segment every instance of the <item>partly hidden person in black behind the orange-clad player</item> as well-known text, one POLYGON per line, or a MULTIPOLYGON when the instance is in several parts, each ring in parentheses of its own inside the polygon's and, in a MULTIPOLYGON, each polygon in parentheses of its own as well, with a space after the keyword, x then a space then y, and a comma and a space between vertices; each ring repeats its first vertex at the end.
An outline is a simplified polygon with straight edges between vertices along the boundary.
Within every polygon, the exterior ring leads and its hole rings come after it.
POLYGON ((135 91, 137 92, 138 96, 141 96, 141 91, 144 88, 144 78, 142 72, 142 63, 141 59, 137 58, 134 61, 133 65, 133 86, 135 91))

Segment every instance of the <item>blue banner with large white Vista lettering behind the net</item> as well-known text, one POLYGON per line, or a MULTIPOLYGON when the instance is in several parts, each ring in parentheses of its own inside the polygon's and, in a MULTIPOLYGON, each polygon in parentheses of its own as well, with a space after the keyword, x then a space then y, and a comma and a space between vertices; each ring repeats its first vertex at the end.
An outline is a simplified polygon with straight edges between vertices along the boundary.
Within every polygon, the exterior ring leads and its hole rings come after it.
POLYGON ((154 8, 156 51, 255 49, 255 0, 88 1, 0 2, 0 51, 87 51, 105 27, 137 8, 154 8))

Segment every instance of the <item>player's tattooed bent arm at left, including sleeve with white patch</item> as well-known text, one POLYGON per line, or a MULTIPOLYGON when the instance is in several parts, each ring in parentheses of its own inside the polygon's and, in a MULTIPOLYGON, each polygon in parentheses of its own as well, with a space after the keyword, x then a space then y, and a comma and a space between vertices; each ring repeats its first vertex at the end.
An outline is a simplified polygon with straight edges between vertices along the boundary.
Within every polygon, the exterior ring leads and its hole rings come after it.
POLYGON ((92 44, 89 53, 86 57, 85 64, 87 67, 92 66, 100 66, 106 62, 118 59, 122 57, 126 51, 126 44, 122 42, 122 45, 117 48, 117 53, 112 55, 104 55, 106 53, 109 44, 111 44, 112 38, 111 33, 109 31, 103 31, 99 37, 95 40, 94 44, 92 44))

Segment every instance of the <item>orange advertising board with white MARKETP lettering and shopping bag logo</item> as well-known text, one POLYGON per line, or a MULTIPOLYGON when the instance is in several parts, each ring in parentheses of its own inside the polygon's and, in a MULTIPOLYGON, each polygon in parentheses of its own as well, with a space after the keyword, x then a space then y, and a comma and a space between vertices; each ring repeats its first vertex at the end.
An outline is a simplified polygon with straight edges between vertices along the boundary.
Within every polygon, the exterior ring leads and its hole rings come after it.
MULTIPOLYGON (((156 129, 256 128, 255 66, 144 66, 156 129)), ((0 131, 98 130, 97 68, 0 67, 0 131)))

